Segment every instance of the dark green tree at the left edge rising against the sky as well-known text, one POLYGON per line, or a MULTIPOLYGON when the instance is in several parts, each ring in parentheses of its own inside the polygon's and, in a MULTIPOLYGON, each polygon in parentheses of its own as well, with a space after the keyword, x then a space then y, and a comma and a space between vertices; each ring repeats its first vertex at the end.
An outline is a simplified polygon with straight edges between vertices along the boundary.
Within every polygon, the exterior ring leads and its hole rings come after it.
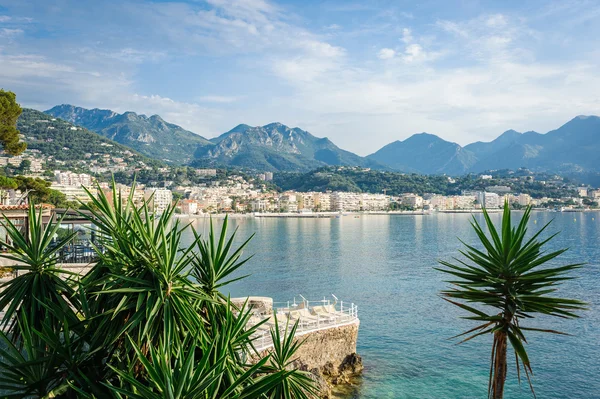
POLYGON ((17 119, 21 112, 15 93, 0 89, 0 143, 10 155, 19 155, 27 148, 27 144, 20 141, 17 130, 17 119))

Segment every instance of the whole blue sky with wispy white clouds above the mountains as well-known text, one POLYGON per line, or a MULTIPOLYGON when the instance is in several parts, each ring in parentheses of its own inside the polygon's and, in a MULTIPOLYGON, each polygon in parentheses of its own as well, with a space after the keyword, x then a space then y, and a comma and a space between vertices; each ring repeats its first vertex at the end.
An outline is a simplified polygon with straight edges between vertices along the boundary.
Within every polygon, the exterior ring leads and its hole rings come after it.
POLYGON ((206 137, 277 121, 367 155, 600 114, 598 37, 598 1, 0 0, 0 87, 206 137))

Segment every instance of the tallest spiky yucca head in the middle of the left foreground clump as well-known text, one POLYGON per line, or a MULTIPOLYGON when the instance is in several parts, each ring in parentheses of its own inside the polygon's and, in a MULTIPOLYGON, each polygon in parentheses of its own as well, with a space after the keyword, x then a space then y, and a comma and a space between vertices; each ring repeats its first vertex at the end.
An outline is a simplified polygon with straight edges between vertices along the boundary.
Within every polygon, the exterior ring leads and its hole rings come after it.
POLYGON ((101 250, 82 284, 97 315, 95 335, 109 347, 116 344, 114 355, 127 363, 135 347, 124 334, 142 348, 148 341, 158 344, 165 324, 182 337, 197 334, 204 324, 197 307, 206 297, 188 278, 193 247, 182 248, 183 229, 171 220, 173 208, 155 217, 148 201, 135 206, 129 197, 123 205, 113 193, 112 201, 103 193, 92 198, 101 250))

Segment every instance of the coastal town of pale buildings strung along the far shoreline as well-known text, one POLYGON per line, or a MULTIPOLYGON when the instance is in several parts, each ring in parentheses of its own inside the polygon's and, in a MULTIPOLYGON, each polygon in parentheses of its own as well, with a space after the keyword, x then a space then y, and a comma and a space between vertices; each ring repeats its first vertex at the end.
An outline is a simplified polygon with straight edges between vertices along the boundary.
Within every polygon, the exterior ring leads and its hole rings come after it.
MULTIPOLYGON (((0 158, 0 160, 5 158, 0 158)), ((10 158, 12 160, 14 158, 10 158)), ((22 162, 22 161, 21 161, 22 162)), ((31 169, 38 166, 31 163, 31 169)), ((485 186, 483 190, 462 190, 457 195, 407 192, 397 195, 386 193, 347 192, 337 190, 296 191, 274 188, 273 173, 228 174, 217 178, 217 169, 195 169, 195 174, 206 181, 198 184, 175 184, 162 181, 158 184, 116 184, 123 198, 132 196, 134 202, 153 198, 154 211, 162 213, 174 204, 176 213, 182 215, 207 215, 215 213, 237 214, 318 214, 322 212, 423 212, 423 211, 474 211, 483 207, 498 209, 508 201, 513 208, 529 205, 537 208, 560 210, 588 210, 598 206, 600 189, 592 187, 569 187, 575 195, 534 198, 527 193, 515 192, 509 185, 485 186), (133 190, 133 192, 132 192, 133 190)), ((47 176, 47 174, 46 174, 47 176)), ((448 177, 450 181, 453 179, 448 177)), ((493 181, 491 175, 479 175, 482 181, 493 181)), ((533 178, 529 178, 533 179, 533 178)), ((62 193, 71 204, 89 201, 86 190, 100 189, 107 194, 112 184, 97 181, 87 173, 56 170, 50 188, 62 193)), ((544 186, 564 186, 559 176, 542 183, 544 186)), ((9 189, 2 193, 3 205, 21 205, 26 198, 21 190, 9 189)))

